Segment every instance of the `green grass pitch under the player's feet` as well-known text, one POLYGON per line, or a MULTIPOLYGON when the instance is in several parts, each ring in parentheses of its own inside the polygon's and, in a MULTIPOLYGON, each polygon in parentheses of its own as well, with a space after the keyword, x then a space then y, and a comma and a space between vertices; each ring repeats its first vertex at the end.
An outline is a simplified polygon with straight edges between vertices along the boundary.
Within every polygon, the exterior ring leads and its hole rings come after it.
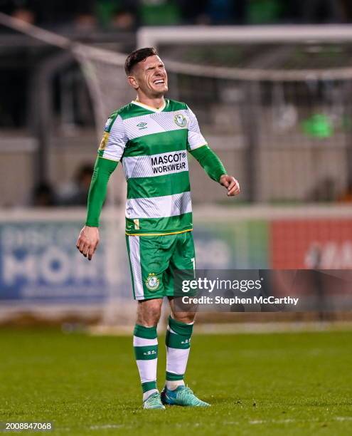
POLYGON ((2 329, 0 421, 50 421, 54 435, 352 434, 352 333, 195 333, 186 382, 211 408, 150 411, 132 338, 2 329))

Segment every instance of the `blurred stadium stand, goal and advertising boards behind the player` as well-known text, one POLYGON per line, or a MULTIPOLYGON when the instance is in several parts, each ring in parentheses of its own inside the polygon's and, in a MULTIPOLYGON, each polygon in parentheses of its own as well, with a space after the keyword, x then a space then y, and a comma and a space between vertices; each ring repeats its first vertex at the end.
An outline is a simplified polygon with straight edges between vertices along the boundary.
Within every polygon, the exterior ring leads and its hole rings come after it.
MULTIPOLYGON (((124 58, 141 46, 159 50, 169 97, 190 105, 242 187, 229 201, 190 162, 198 268, 352 269, 350 2, 0 0, 0 11, 0 323, 134 323, 120 167, 94 261, 75 241, 105 120, 134 98, 124 58)), ((200 318, 343 321, 341 292, 314 313, 200 318)))

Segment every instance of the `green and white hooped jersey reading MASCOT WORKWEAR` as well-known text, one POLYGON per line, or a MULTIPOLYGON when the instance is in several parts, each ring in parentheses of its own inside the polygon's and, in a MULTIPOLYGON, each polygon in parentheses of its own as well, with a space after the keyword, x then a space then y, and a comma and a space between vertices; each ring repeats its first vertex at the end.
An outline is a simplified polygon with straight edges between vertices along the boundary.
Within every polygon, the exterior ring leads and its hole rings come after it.
POLYGON ((166 99, 163 108, 154 109, 132 101, 110 115, 98 153, 122 161, 127 234, 192 229, 187 150, 206 144, 185 103, 166 99))

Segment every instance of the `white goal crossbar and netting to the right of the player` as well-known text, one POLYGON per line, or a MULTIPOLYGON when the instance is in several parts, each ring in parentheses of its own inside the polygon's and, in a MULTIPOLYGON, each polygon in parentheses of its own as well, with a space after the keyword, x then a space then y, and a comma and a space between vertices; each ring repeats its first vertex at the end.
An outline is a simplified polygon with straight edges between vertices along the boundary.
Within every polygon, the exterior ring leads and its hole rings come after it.
POLYGON ((215 147, 230 142, 243 197, 334 201, 351 186, 349 26, 142 28, 138 44, 168 59, 171 93, 215 147))

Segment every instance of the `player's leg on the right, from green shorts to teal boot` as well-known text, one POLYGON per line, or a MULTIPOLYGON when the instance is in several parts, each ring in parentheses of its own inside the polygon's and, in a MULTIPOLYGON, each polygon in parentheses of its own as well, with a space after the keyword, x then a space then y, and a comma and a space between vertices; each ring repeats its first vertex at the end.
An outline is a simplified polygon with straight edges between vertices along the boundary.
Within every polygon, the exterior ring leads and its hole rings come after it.
MULTIPOLYGON (((191 232, 178 235, 178 245, 170 259, 172 270, 192 270, 195 267, 195 251, 191 232)), ((161 400, 169 405, 208 406, 186 388, 184 375, 191 347, 191 336, 195 312, 180 312, 176 310, 174 297, 170 294, 173 279, 169 279, 166 293, 169 296, 171 316, 166 331, 166 384, 161 393, 161 400)))

